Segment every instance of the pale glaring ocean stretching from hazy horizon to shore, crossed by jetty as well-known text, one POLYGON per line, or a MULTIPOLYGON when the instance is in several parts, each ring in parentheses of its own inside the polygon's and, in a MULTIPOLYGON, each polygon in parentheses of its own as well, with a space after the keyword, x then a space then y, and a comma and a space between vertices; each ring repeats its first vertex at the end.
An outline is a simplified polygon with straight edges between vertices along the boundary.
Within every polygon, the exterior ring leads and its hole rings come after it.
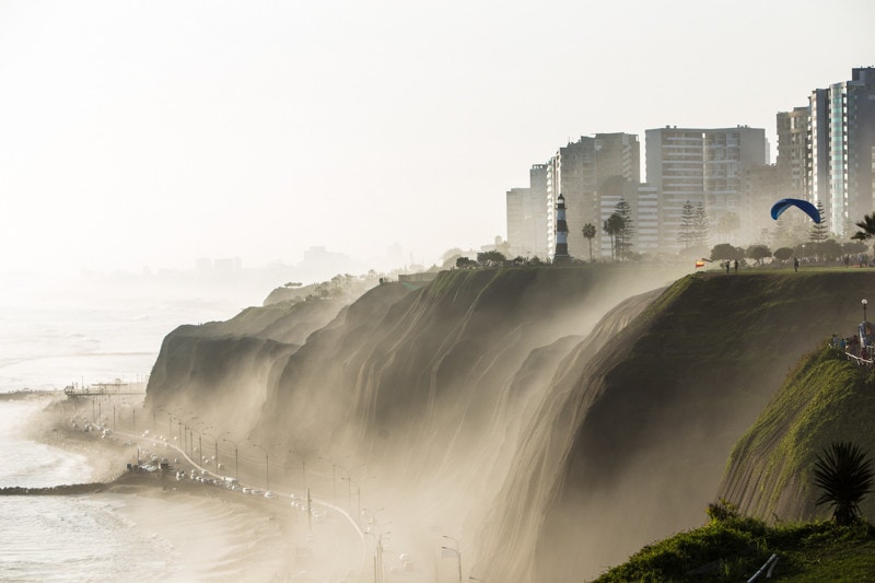
MULTIPOLYGON (((167 333, 247 305, 103 283, 3 283, 0 393, 144 383, 167 333)), ((89 456, 27 436, 45 406, 0 399, 0 487, 96 479, 89 456)), ((241 581, 252 572, 243 550, 278 536, 250 509, 203 497, 0 495, 0 581, 241 581)))

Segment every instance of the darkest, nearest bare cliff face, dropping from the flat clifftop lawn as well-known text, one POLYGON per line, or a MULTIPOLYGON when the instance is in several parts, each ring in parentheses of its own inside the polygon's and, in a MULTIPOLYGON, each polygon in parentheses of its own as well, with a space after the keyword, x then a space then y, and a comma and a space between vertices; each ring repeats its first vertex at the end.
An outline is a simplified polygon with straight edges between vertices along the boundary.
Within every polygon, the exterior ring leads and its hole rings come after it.
MULTIPOLYGON (((565 407, 530 428, 542 451, 557 439, 549 428, 573 418, 549 503, 503 510, 504 524, 545 515, 525 580, 580 581, 700 525, 735 441, 801 354, 853 333, 861 290, 873 283, 864 271, 678 281, 587 362, 565 407)), ((522 580, 502 571, 510 552, 482 560, 499 579, 522 580)))

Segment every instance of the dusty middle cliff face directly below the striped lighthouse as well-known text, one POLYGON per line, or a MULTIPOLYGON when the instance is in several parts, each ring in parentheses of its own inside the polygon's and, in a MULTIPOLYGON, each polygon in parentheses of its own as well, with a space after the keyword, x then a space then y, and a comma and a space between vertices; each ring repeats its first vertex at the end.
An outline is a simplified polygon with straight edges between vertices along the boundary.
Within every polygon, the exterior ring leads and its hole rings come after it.
POLYGON ((262 427, 353 452, 398 490, 467 481, 472 458, 514 447, 542 366, 552 374, 573 343, 556 342, 580 340, 618 294, 652 281, 630 269, 456 270, 390 304, 376 288, 288 359, 262 427))

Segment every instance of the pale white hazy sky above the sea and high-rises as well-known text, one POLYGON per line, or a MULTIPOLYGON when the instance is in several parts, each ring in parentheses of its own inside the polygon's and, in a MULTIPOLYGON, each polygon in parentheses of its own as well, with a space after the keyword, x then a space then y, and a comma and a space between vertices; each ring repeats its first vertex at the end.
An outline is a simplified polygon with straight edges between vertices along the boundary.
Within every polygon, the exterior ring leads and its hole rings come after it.
POLYGON ((505 191, 580 136, 774 147, 778 110, 875 65, 875 3, 816 7, 0 0, 0 272, 430 264, 504 236, 505 191))

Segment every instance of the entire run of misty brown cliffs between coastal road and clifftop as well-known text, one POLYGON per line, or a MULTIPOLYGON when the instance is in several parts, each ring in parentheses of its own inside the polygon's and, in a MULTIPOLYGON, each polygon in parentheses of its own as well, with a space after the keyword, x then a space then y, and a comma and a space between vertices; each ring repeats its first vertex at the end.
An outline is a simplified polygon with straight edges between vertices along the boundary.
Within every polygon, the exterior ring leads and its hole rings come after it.
POLYGON ((672 279, 455 270, 343 307, 257 308, 168 336, 149 399, 270 444, 271 476, 314 495, 345 476, 398 545, 464 533, 475 576, 576 582, 703 522, 733 443, 800 354, 851 334, 875 273, 654 291, 672 279))

